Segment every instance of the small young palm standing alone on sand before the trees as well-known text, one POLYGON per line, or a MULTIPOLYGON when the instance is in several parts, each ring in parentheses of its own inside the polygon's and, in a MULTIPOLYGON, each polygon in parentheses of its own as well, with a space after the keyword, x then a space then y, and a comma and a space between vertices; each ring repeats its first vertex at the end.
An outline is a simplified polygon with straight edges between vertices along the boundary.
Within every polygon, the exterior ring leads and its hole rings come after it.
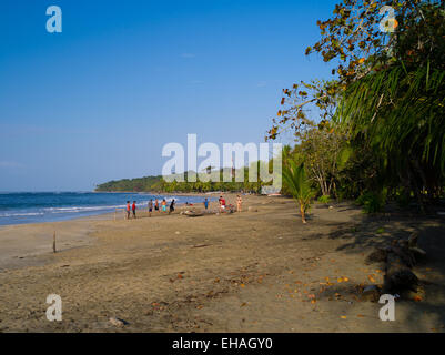
POLYGON ((283 165, 283 181, 300 205, 302 222, 306 223, 305 214, 311 205, 312 191, 306 179, 304 164, 297 165, 293 159, 287 158, 286 164, 283 165))

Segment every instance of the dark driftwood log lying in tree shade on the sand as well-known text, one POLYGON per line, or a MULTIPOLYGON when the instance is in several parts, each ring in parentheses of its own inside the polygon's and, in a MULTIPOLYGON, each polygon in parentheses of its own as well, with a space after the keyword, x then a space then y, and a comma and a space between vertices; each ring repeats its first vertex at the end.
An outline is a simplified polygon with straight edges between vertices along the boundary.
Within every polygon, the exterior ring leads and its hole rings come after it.
POLYGON ((419 281, 412 267, 426 253, 417 246, 417 240, 418 234, 413 233, 407 241, 395 240, 391 245, 377 248, 366 257, 367 264, 385 263, 383 294, 412 295, 419 291, 419 281))

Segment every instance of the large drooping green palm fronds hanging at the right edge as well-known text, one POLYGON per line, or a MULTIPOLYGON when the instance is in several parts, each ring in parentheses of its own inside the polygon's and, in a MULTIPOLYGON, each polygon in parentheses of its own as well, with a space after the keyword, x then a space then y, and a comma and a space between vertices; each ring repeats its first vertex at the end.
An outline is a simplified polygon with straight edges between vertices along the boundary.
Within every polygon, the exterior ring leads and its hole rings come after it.
POLYGON ((352 136, 366 132, 375 149, 416 155, 444 170, 444 105, 445 71, 417 68, 406 74, 400 63, 351 84, 337 115, 352 136))

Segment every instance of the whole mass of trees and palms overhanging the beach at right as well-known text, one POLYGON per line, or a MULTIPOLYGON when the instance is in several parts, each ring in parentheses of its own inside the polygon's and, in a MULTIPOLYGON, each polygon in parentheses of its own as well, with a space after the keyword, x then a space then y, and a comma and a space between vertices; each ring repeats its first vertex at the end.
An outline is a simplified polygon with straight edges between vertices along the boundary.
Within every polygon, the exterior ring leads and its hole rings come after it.
POLYGON ((444 1, 343 0, 317 26, 321 39, 306 54, 332 63, 335 79, 283 90, 267 138, 295 131, 294 151, 323 195, 332 187, 337 199, 358 197, 370 213, 414 196, 424 210, 445 186, 444 1), (394 31, 378 29, 384 6, 394 9, 394 31), (342 144, 320 140, 324 128, 342 144))

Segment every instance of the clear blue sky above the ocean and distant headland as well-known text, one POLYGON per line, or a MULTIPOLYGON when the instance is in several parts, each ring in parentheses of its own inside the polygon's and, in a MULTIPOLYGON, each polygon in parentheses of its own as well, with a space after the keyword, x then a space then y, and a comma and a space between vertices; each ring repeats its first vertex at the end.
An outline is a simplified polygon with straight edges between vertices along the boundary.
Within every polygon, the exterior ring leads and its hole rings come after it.
POLYGON ((163 145, 188 133, 264 142, 282 89, 331 78, 304 50, 335 3, 2 0, 0 191, 158 175, 163 145))

